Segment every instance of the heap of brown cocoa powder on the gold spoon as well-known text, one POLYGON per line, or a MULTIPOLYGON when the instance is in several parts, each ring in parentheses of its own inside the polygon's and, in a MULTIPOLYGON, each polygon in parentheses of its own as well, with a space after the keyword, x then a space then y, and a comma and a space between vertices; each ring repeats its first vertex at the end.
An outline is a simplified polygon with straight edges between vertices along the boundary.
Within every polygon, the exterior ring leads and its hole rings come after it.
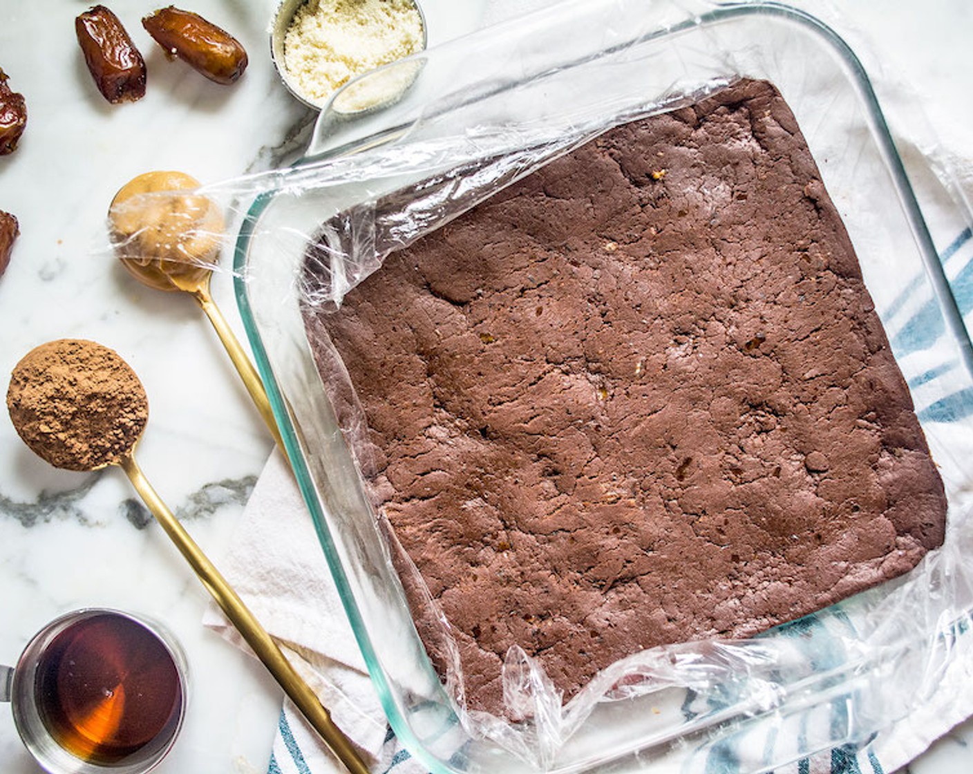
POLYGON ((117 464, 149 418, 135 372, 115 350, 59 339, 18 362, 7 408, 24 443, 54 467, 94 470, 117 464))

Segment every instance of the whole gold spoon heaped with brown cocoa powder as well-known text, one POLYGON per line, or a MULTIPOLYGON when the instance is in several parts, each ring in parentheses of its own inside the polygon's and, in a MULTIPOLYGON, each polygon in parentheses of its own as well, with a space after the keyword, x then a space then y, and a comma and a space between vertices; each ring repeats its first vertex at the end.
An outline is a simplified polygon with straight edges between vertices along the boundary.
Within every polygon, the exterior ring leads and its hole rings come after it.
POLYGON ((302 715, 352 774, 368 767, 260 621, 162 502, 135 461, 148 422, 145 388, 114 350, 59 339, 28 352, 14 368, 7 408, 24 443, 55 467, 91 471, 118 465, 202 585, 302 715))

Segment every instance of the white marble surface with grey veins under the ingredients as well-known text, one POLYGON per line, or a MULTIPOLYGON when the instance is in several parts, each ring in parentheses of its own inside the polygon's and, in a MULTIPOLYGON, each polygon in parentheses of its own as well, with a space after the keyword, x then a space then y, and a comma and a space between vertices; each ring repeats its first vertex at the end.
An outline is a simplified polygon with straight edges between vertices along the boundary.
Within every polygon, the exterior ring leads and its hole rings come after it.
MULTIPOLYGON (((88 7, 0 0, 0 67, 27 99, 18 150, 0 157, 0 209, 21 236, 0 278, 0 374, 55 338, 89 338, 118 350, 142 379, 151 405, 138 460, 169 506, 219 565, 234 522, 270 451, 268 434, 197 306, 144 288, 105 246, 103 218, 115 191, 152 168, 224 179, 291 158, 311 120, 280 87, 267 27, 273 0, 194 0, 192 9, 234 32, 250 55, 232 87, 168 62, 139 19, 159 4, 115 4, 149 67, 147 95, 109 105, 94 90, 73 19, 88 7)), ((472 0, 427 0, 430 39, 476 23, 472 0)), ((511 2, 514 6, 516 3, 511 2)), ((847 23, 919 86, 922 107, 947 138, 973 155, 973 68, 965 0, 848 0, 847 23), (960 95, 957 117, 948 96, 960 95), (965 112, 962 112, 965 111, 965 112)), ((229 269, 230 256, 225 257, 229 269)), ((218 274, 217 302, 245 340, 232 277, 218 274)), ((192 694, 166 772, 266 771, 280 693, 259 664, 201 627, 207 596, 138 504, 120 470, 75 474, 34 457, 0 420, 0 662, 12 663, 31 634, 58 613, 109 606, 150 613, 185 645, 192 694)), ((916 774, 966 772, 967 722, 921 756, 916 774)), ((36 771, 10 713, 0 708, 0 769, 36 771)))

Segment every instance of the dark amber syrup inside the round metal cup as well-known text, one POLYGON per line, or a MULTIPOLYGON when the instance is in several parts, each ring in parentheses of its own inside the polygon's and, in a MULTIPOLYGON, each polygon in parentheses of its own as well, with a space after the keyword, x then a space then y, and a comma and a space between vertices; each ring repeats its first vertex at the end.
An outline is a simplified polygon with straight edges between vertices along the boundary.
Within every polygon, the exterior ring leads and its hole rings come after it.
POLYGON ((60 632, 34 684, 54 740, 91 763, 151 756, 178 729, 183 690, 172 655, 124 615, 98 613, 60 632))

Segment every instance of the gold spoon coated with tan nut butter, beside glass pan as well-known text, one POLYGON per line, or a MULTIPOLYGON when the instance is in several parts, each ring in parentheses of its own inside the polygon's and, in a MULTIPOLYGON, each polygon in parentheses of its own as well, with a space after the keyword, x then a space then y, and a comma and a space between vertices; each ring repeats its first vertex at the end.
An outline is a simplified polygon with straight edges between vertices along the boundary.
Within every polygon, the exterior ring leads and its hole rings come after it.
POLYGON ((189 293, 196 299, 283 450, 260 375, 209 289, 219 260, 224 220, 219 205, 198 193, 198 188, 198 180, 178 171, 145 172, 132 178, 108 209, 111 240, 122 265, 140 282, 156 290, 189 293))

